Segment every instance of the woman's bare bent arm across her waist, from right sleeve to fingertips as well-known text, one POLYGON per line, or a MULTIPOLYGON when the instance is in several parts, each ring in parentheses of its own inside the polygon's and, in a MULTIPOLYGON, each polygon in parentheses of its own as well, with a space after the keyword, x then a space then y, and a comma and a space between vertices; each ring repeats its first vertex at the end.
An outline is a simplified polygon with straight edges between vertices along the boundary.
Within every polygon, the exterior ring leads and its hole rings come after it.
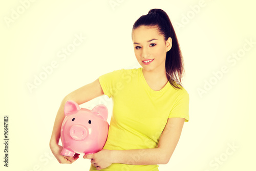
POLYGON ((157 148, 130 149, 123 151, 102 150, 84 158, 92 159, 97 169, 108 167, 112 163, 132 165, 167 164, 180 139, 184 118, 168 118, 157 148))

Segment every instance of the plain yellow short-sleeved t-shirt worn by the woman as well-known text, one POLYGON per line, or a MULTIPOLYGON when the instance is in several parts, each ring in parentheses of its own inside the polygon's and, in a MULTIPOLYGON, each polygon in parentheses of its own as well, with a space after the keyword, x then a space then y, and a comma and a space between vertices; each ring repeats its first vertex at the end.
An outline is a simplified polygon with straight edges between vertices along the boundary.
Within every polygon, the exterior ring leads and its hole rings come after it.
MULTIPOLYGON (((104 149, 156 148, 168 118, 189 120, 187 91, 174 89, 169 82, 160 91, 152 90, 142 68, 116 70, 99 77, 105 95, 113 100, 108 139, 104 149)), ((138 154, 131 160, 138 160, 138 154)), ((90 170, 96 170, 91 166, 90 170)), ((158 165, 113 163, 103 170, 158 170, 158 165)))

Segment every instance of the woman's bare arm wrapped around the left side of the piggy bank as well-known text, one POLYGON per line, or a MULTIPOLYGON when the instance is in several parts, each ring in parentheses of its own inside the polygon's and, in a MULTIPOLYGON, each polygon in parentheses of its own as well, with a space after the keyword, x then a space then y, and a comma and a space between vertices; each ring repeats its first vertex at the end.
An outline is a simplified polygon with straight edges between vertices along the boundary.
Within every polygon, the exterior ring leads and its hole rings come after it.
POLYGON ((77 158, 78 155, 75 155, 74 157, 63 157, 60 155, 62 147, 58 145, 59 138, 60 138, 60 129, 63 119, 65 118, 64 115, 64 106, 66 101, 73 100, 78 104, 82 104, 84 102, 90 101, 98 96, 103 95, 103 91, 101 89, 99 79, 96 79, 94 82, 87 84, 86 86, 83 86, 70 94, 68 94, 63 100, 61 101, 59 110, 57 112, 54 125, 53 125, 53 131, 52 136, 50 139, 50 148, 53 153, 53 155, 56 157, 56 159, 60 163, 72 163, 77 158))

